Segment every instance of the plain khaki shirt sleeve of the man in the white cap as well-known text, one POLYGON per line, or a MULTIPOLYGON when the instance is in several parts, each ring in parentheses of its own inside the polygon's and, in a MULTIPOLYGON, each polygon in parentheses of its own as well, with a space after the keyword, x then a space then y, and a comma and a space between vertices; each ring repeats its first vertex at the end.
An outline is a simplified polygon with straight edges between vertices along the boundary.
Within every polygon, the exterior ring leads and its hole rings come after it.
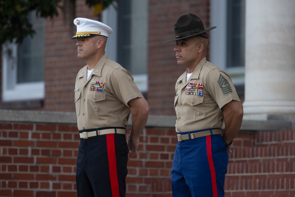
MULTIPOLYGON (((112 94, 125 105, 134 98, 143 98, 140 90, 133 81, 133 77, 123 68, 115 69, 110 76, 112 94)), ((127 105, 128 106, 128 105, 127 105)))

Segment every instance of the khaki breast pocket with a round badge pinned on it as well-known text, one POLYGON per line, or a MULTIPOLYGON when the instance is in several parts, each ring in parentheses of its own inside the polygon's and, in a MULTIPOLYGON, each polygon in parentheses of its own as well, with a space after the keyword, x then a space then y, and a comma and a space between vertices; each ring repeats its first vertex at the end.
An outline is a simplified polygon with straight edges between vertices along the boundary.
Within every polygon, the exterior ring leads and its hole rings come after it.
POLYGON ((106 93, 89 91, 87 94, 87 110, 89 115, 106 115, 106 93))

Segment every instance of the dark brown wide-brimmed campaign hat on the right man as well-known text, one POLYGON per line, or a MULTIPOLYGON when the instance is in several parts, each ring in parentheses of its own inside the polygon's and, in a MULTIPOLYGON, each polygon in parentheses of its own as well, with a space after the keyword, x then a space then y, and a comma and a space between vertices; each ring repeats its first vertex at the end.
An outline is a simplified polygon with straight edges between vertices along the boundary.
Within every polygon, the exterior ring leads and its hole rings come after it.
MULTIPOLYGON (((195 14, 183 14, 177 19, 174 25, 175 38, 166 40, 164 43, 199 35, 214 28, 216 26, 205 29, 202 20, 195 14)), ((205 36, 201 37, 207 38, 205 36)))

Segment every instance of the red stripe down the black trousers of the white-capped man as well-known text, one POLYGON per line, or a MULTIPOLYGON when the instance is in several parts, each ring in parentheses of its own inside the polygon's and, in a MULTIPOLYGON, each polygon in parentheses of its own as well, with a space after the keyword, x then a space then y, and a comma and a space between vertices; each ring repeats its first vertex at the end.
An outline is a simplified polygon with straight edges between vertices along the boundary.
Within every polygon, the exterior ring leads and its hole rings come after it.
POLYGON ((117 176, 116 151, 114 134, 106 134, 106 146, 109 159, 109 171, 111 179, 112 196, 119 197, 119 183, 117 176))

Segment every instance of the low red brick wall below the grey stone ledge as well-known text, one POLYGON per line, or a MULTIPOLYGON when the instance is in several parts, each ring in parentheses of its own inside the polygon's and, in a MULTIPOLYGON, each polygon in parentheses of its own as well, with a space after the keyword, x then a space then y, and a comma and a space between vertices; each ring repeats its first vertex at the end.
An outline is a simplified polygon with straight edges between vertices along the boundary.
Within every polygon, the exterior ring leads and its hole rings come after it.
MULTIPOLYGON (((1 122, 0 196, 76 196, 77 132, 75 124, 1 122)), ((240 131, 226 196, 295 196, 294 141, 294 130, 240 131)), ((129 155, 126 197, 172 196, 176 144, 173 128, 145 129, 138 157, 129 155)))

